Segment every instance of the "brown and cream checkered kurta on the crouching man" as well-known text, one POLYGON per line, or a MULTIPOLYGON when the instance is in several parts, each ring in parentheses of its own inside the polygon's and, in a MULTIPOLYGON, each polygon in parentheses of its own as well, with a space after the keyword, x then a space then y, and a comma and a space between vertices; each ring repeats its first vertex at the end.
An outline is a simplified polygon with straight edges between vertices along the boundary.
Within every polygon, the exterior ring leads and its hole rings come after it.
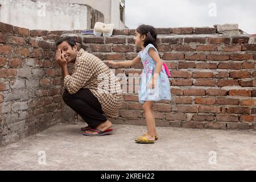
POLYGON ((88 88, 98 98, 104 114, 118 117, 123 95, 117 77, 103 61, 82 48, 77 54, 72 76, 64 78, 64 88, 69 94, 88 88))

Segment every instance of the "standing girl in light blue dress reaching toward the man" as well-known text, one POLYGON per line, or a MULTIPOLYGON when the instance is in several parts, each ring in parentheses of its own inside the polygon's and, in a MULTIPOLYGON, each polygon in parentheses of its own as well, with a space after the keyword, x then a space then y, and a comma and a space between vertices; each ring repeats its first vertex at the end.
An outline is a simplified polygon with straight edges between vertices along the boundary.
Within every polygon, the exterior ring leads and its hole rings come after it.
POLYGON ((142 51, 131 61, 108 61, 109 64, 131 67, 142 61, 143 71, 139 85, 139 102, 143 103, 146 117, 147 134, 135 139, 138 143, 154 143, 157 137, 155 116, 152 110, 154 101, 171 100, 170 72, 163 66, 156 49, 156 30, 152 26, 141 25, 135 30, 135 45, 141 46, 142 51), (167 76, 168 74, 168 76, 167 76))

